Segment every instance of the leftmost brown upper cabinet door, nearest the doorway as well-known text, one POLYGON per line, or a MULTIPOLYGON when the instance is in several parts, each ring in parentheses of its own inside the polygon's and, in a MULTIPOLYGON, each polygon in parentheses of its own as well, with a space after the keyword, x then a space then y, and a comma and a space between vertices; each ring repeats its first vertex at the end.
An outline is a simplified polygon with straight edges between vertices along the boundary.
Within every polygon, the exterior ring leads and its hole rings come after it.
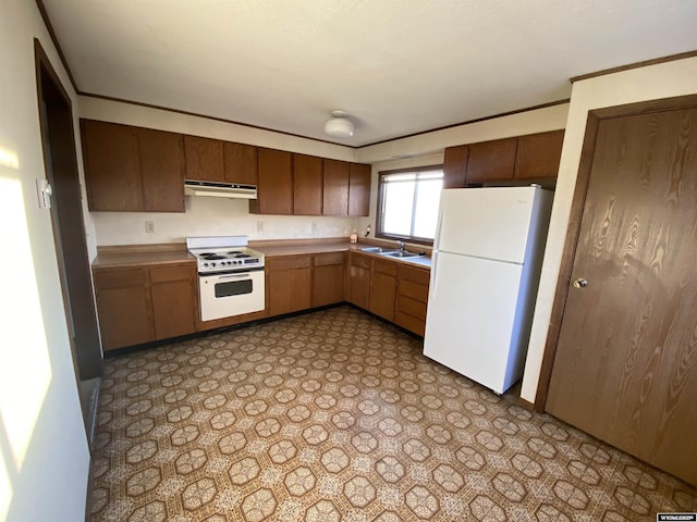
POLYGON ((96 211, 143 211, 137 128, 81 122, 87 203, 96 211))

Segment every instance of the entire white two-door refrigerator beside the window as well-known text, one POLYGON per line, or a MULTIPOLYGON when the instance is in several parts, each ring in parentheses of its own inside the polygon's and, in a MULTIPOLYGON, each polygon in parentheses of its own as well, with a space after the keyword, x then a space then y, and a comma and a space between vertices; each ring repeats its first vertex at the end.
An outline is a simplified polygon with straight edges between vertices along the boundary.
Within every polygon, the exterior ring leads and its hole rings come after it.
POLYGON ((441 192, 424 355, 503 394, 523 375, 552 192, 441 192))

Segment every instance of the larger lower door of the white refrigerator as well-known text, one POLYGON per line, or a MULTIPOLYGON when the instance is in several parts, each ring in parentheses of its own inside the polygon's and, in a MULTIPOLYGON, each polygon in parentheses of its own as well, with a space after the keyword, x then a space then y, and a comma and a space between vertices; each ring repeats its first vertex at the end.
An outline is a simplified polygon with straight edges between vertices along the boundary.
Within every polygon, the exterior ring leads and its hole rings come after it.
POLYGON ((424 355, 498 394, 522 374, 518 289, 523 268, 438 252, 431 274, 424 355))

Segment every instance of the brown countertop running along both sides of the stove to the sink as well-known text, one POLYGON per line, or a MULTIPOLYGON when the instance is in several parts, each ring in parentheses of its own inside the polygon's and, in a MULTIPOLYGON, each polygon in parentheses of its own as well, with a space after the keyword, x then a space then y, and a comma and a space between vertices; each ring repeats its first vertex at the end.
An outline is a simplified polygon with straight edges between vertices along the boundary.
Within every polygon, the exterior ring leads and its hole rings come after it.
MULTIPOLYGON (((371 245, 394 247, 392 243, 370 241, 351 245, 347 239, 288 239, 249 241, 249 246, 268 257, 302 256, 326 252, 358 251, 375 258, 389 259, 399 263, 413 264, 430 269, 430 256, 395 259, 379 253, 363 252, 362 249, 371 245)), ((395 248, 396 249, 396 248, 395 248)), ((420 251, 418 247, 407 247, 409 251, 420 251)), ((94 270, 119 269, 143 264, 174 264, 195 262, 195 258, 186 251, 183 243, 162 245, 125 245, 99 247, 98 254, 91 263, 94 270)))

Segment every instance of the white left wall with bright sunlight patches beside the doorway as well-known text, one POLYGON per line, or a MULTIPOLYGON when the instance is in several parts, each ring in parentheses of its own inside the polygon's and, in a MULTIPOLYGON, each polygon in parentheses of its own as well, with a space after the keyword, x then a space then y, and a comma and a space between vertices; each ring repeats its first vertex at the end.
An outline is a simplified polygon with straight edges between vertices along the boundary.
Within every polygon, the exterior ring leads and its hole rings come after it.
MULTIPOLYGON (((45 178, 34 37, 70 82, 36 3, 0 3, 0 520, 84 520, 89 451, 45 178)), ((73 103, 76 97, 71 91, 73 103)))

